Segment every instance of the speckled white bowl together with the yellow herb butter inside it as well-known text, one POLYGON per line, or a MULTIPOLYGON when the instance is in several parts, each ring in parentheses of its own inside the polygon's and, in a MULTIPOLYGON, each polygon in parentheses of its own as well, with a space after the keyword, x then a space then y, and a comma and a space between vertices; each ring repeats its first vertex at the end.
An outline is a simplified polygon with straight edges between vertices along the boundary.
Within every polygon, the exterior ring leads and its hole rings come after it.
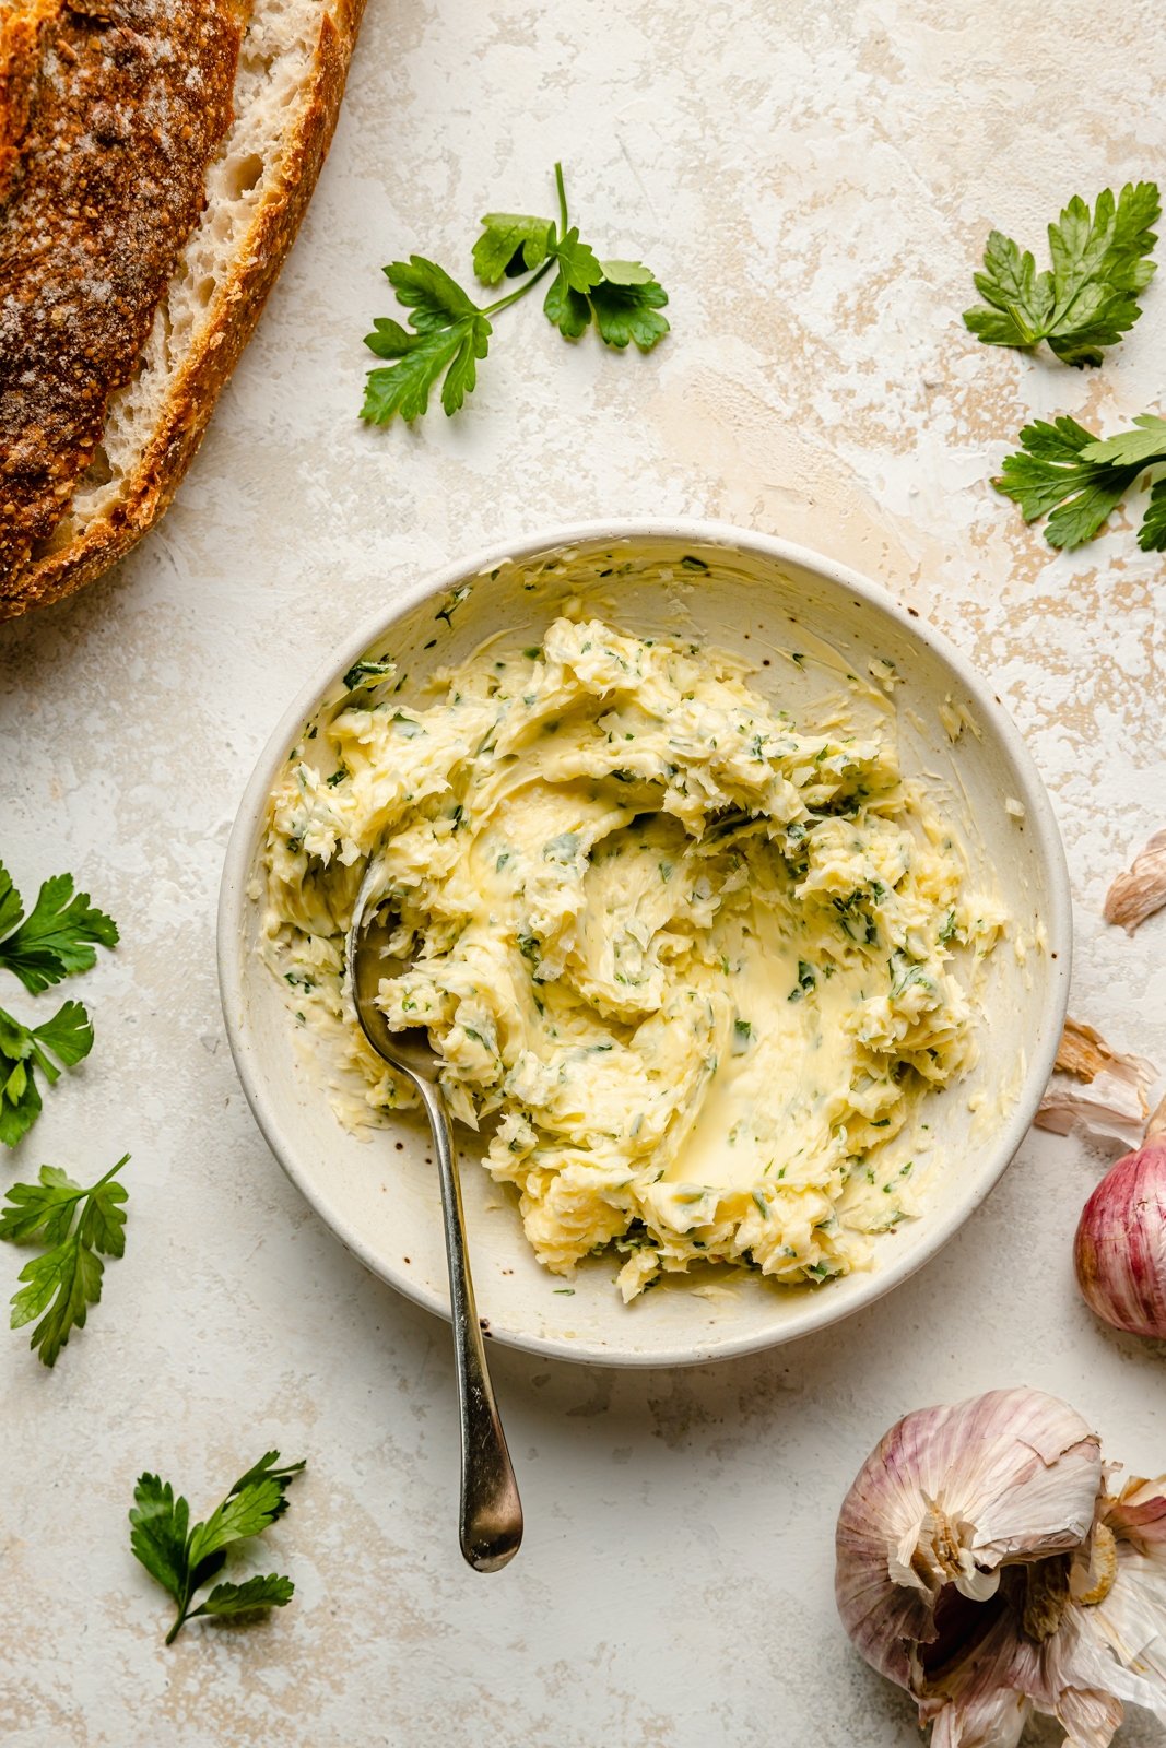
POLYGON ((243 1084, 344 1243, 444 1309, 427 1134, 343 986, 369 857, 407 961, 381 1005, 430 1033, 519 1346, 684 1363, 846 1314, 986 1196, 1052 1063, 1068 900, 1028 755, 935 633, 776 540, 605 524, 458 566, 248 787, 243 1084))

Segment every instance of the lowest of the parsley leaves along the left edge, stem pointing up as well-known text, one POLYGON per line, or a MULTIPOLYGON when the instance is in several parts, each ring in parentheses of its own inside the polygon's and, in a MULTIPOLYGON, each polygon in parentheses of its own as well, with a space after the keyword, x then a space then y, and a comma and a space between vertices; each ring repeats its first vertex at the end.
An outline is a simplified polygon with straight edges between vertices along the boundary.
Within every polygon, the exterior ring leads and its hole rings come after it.
POLYGON ((56 1365, 72 1328, 84 1328, 91 1304, 101 1297, 105 1266, 98 1252, 126 1252, 126 1189, 114 1176, 115 1166, 82 1189, 59 1166, 42 1166, 38 1183, 14 1183, 0 1210, 0 1238, 10 1245, 47 1245, 21 1269, 24 1281, 12 1297, 12 1328, 40 1318, 30 1346, 44 1365, 56 1365), (77 1218, 80 1215, 80 1218, 77 1218))

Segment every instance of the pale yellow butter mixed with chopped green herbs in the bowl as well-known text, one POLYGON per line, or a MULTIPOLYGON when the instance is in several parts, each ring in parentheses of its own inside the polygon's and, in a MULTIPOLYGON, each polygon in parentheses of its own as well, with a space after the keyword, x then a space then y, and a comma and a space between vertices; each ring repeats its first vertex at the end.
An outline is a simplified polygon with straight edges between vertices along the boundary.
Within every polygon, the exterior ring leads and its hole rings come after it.
POLYGON ((292 760, 271 799, 260 951, 332 1040, 343 1120, 413 1101, 341 988, 378 855, 413 961, 385 1014, 428 1028, 462 1122, 496 1119, 486 1164, 551 1269, 614 1245, 628 1299, 698 1260, 822 1281, 914 1211, 895 1136, 974 1061, 1003 918, 881 738, 559 619, 320 739, 332 776, 292 760))

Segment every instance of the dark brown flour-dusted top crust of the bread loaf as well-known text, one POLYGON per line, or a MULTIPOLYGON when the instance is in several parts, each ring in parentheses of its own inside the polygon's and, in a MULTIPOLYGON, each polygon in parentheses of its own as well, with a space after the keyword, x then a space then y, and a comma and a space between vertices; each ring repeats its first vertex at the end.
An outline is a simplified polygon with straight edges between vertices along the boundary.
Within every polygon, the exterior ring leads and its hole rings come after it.
POLYGON ((0 213, 3 577, 73 531, 61 516, 205 212, 243 35, 231 0, 35 5, 0 23, 19 128, 0 213))

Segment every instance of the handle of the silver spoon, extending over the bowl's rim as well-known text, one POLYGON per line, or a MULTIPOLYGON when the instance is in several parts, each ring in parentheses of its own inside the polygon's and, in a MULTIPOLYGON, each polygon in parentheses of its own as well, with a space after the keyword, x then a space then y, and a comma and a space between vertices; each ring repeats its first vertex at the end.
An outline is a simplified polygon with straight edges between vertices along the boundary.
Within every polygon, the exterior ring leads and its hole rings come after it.
POLYGON ((475 1571, 498 1571, 523 1540, 523 1505, 486 1367, 486 1346, 474 1304, 465 1250, 462 1180, 449 1112, 441 1089, 418 1079, 428 1112, 441 1176, 441 1204, 449 1259, 449 1306, 462 1412, 462 1552, 475 1571))

